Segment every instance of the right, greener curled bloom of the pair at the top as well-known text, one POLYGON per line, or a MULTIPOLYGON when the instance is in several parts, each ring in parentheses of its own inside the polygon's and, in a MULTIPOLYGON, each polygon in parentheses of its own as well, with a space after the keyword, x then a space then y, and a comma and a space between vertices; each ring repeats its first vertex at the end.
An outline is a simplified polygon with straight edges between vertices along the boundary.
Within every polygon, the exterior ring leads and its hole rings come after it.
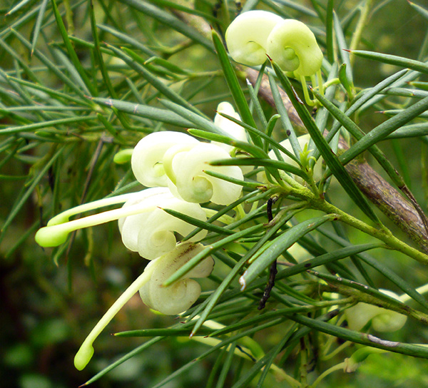
POLYGON ((301 21, 285 19, 276 24, 267 38, 267 55, 284 71, 313 76, 320 70, 322 51, 315 35, 301 21))

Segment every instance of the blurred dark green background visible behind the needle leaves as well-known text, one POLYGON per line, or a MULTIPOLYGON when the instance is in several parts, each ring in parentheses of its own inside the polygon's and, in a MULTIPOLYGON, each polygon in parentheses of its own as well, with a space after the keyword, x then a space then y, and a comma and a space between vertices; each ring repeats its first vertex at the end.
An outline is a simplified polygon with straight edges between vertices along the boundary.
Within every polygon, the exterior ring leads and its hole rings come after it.
MULTIPOLYGON (((0 3, 0 31, 6 31, 19 16, 26 14, 31 6, 39 1, 29 1, 28 4, 13 16, 6 16, 19 1, 3 0, 0 3)), ((156 3, 156 1, 154 1, 156 3)), ((242 1, 243 4, 245 1, 242 1)), ((71 0, 71 4, 75 2, 71 0)), ((214 1, 198 1, 199 9, 212 12, 214 1)), ((232 2, 230 2, 232 3, 232 2)), ((61 3, 60 3, 61 4, 61 3)), ((263 2, 261 2, 262 6, 263 2)), ((310 7, 309 0, 302 0, 302 4, 310 7)), ((357 1, 337 1, 340 14, 346 14, 358 4, 357 1)), ((422 40, 427 31, 427 20, 417 14, 405 0, 375 1, 379 11, 374 13, 363 38, 365 49, 393 53, 399 56, 417 58, 422 40), (382 5, 382 6, 381 6, 382 5)), ((423 4, 422 4, 423 5, 423 4)), ((91 41, 91 26, 86 14, 87 2, 81 1, 73 10, 75 19, 75 36, 91 41)), ((146 16, 136 15, 126 9, 121 3, 113 0, 96 1, 96 15, 99 15, 103 24, 115 25, 126 31, 135 39, 141 39, 149 47, 151 41, 148 36, 161 41, 165 46, 172 47, 183 41, 182 36, 173 34, 164 26, 146 16), (117 7, 117 9, 116 9, 117 7), (110 9, 116 20, 106 18, 105 10, 110 9), (144 29, 142 29, 144 26, 144 29), (149 32, 151 31, 151 34, 149 32)), ((233 9, 234 5, 231 4, 233 9)), ((297 11, 290 13, 299 17, 297 11)), ((316 24, 315 20, 306 19, 316 24)), ((52 20, 52 17, 49 19, 52 20)), ((352 26, 352 22, 350 24, 352 26)), ((34 30, 34 19, 19 28, 21 34, 30 39, 34 30)), ((44 45, 55 44, 61 41, 56 25, 49 23, 44 28, 44 39, 40 39, 38 47, 46 51, 44 45)), ((3 38, 2 38, 3 39, 3 38)), ((14 39, 13 36, 4 38, 8 44, 16 45, 16 51, 21 53, 29 66, 41 66, 36 58, 29 56, 14 39)), ((103 39, 108 43, 115 43, 116 38, 104 34, 103 39)), ((90 61, 91 53, 83 46, 76 45, 78 56, 83 63, 90 61)), ((218 62, 213 54, 196 45, 189 46, 170 57, 170 61, 185 68, 196 71, 218 71, 218 62)), ((113 73, 111 63, 111 71, 113 73)), ((117 64, 120 66, 120 64, 117 64)), ((3 46, 0 47, 0 67, 4 71, 13 71, 14 62, 3 46)), ((392 73, 392 68, 379 63, 357 58, 355 64, 355 85, 370 87, 392 73)), ((120 76, 120 72, 117 74, 120 76)), ((53 86, 56 78, 44 74, 46 85, 53 86)), ((208 116, 213 117, 216 104, 222 96, 228 96, 225 82, 221 77, 213 78, 208 86, 203 86, 204 79, 196 78, 187 83, 183 95, 189 96, 196 88, 198 101, 208 116), (213 97, 214 96, 214 97, 213 97)), ((5 84, 2 83, 2 88, 5 84)), ((4 97, 0 93, 0 101, 4 97)), ((7 98, 4 100, 7 103, 7 98)), ((266 106, 267 109, 269 109, 266 106)), ((371 128, 384 120, 381 113, 367 111, 361 118, 364 128, 371 128)), ((10 118, 0 113, 0 123, 11 124, 10 118)), ((139 138, 138 133, 128 138, 130 146, 139 138)), ((6 138, 0 138, 7 141, 6 138)), ((66 200, 58 200, 54 210, 69 208, 77 205, 81 198, 83 185, 88 176, 88 170, 96 154, 97 140, 73 143, 68 153, 63 155, 64 168, 62 175, 56 176, 58 185, 61 185, 66 200)), ((25 140, 24 143, 29 143, 25 140)), ((20 145, 22 146, 22 145, 20 145)), ((409 179, 417 198, 426 203, 424 193, 427 193, 426 176, 420 169, 421 159, 426 160, 426 146, 415 143, 413 140, 402 141, 401 148, 409 162, 409 179), (424 153, 422 152, 424 151, 424 153)), ((113 155, 118 149, 105 145, 99 154, 91 181, 88 184, 86 198, 95 200, 111 193, 116 184, 126 176, 127 181, 132 177, 128 165, 113 163, 113 155)), ((388 152, 390 151, 387 148, 388 152)), ((37 169, 36 161, 47 152, 43 145, 29 148, 14 158, 13 163, 1 163, 0 175, 0 225, 4 225, 9 212, 16 203, 16 198, 28 187, 25 187, 26 177, 37 169), (14 176, 14 179, 4 178, 14 176)), ((1 160, 8 158, 8 153, 1 150, 1 160)), ((108 307, 121 295, 121 292, 134 280, 146 265, 136 253, 128 252, 123 247, 118 234, 116 223, 93 228, 90 233, 93 242, 89 243, 87 235, 77 233, 73 244, 65 247, 66 252, 56 254, 51 249, 42 249, 34 242, 34 233, 39 226, 41 212, 46 211, 39 203, 38 190, 42 192, 49 188, 49 173, 42 178, 40 185, 26 199, 24 206, 2 235, 0 244, 0 386, 9 388, 66 388, 78 387, 86 382, 96 372, 106 367, 121 354, 139 346, 145 339, 115 338, 108 333, 139 328, 165 327, 173 322, 173 317, 156 315, 143 305, 138 295, 134 296, 126 307, 119 312, 103 334, 95 343, 96 353, 83 372, 73 367, 73 357, 83 339, 96 324, 108 307), (56 262, 57 260, 57 262, 56 262)), ((53 199, 55 200, 55 199, 53 199)), ((345 208, 350 204, 345 203, 345 208)), ((51 214, 54 215, 54 214, 51 214)), ((428 282, 427 270, 419 266, 408 267, 395 264, 397 272, 412 274, 420 280, 420 284, 428 282)), ((417 332, 414 340, 421 337, 428 339, 425 328, 407 325, 407 337, 412 340, 413 333, 417 332)), ((277 338, 275 332, 265 333, 262 342, 274 343, 277 338)), ((206 348, 203 345, 188 339, 182 341, 171 339, 169 342, 160 342, 146 352, 138 354, 121 367, 93 384, 93 387, 151 387, 162 377, 172 373, 185 362, 197 357, 206 348)), ((213 358, 214 359, 214 358, 213 358)), ((190 369, 185 377, 168 383, 168 388, 199 387, 207 378, 213 367, 213 359, 203 360, 190 369)), ((428 387, 427 362, 412 359, 399 354, 371 356, 355 374, 332 374, 330 380, 320 387, 428 387)), ((275 381, 271 380, 273 385, 275 381)), ((281 384, 277 385, 282 386, 281 384)))

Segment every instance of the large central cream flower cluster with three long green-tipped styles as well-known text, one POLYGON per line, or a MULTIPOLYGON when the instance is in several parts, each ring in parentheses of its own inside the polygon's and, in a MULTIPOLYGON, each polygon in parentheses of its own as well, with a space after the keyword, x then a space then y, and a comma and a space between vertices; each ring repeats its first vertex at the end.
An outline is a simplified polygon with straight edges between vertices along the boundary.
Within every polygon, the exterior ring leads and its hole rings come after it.
MULTIPOLYGON (((231 138, 247 141, 245 131, 233 121, 220 116, 226 113, 240 119, 230 103, 220 103, 215 124, 231 138)), ((75 365, 83 369, 93 354, 92 343, 118 310, 137 291, 141 300, 166 315, 188 310, 200 295, 200 285, 191 278, 207 277, 213 270, 212 257, 201 260, 183 277, 167 287, 163 283, 198 255, 205 247, 197 243, 205 238, 200 230, 186 242, 177 244, 176 235, 186 236, 194 226, 164 211, 175 210, 199 221, 207 220, 200 205, 211 201, 229 205, 241 195, 242 187, 205 173, 211 170, 230 178, 243 180, 238 166, 211 166, 210 161, 230 158, 233 147, 220 143, 203 143, 185 133, 151 133, 138 142, 131 155, 131 168, 138 182, 146 186, 136 193, 104 198, 77 206, 52 218, 36 233, 36 242, 54 247, 66 242, 74 230, 118 220, 123 244, 151 262, 123 295, 116 300, 83 342, 75 357, 75 365), (123 203, 118 209, 70 220, 74 215, 105 206, 123 203)))

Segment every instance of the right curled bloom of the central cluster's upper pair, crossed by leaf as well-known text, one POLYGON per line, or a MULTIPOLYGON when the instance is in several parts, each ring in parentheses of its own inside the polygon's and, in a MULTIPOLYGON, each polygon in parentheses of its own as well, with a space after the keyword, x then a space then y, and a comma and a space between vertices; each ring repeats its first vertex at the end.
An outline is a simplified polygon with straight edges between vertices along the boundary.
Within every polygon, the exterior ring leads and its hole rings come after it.
POLYGON ((243 180, 243 173, 238 166, 208 164, 211 160, 226 158, 230 158, 227 151, 208 143, 199 143, 191 150, 177 153, 170 162, 175 173, 175 185, 169 183, 171 191, 192 203, 210 200, 218 205, 229 205, 238 200, 241 186, 204 173, 204 170, 211 170, 243 180))

